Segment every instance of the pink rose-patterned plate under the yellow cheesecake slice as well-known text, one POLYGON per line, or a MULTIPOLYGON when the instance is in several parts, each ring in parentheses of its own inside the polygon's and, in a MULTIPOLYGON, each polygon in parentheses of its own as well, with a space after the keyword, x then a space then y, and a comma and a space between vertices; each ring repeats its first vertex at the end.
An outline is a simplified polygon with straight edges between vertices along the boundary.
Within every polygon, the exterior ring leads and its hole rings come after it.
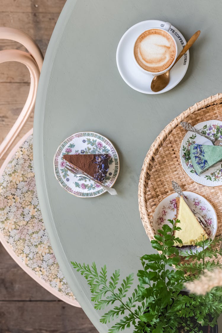
MULTIPOLYGON (((187 200, 189 201, 191 207, 195 209, 198 213, 203 216, 204 220, 208 225, 208 234, 211 238, 214 238, 217 231, 217 214, 213 208, 213 206, 201 195, 184 191, 184 195, 186 196, 187 200)), ((176 217, 176 197, 178 194, 172 193, 165 198, 163 198, 158 206, 156 207, 154 214, 153 214, 153 228, 157 232, 158 229, 162 227, 163 224, 168 224, 172 226, 167 220, 168 219, 175 219, 176 217)), ((202 250, 202 248, 197 248, 196 246, 189 246, 186 248, 181 248, 180 251, 185 250, 195 250, 197 249, 198 252, 202 250)))

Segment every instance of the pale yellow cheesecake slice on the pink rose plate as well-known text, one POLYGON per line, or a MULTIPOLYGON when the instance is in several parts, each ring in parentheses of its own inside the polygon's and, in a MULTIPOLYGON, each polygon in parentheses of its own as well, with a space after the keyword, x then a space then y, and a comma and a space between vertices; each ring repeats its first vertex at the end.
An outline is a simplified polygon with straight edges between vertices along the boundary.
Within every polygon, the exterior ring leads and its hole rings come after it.
POLYGON ((183 244, 175 242, 174 246, 195 245, 196 242, 207 239, 207 233, 182 196, 176 198, 176 206, 176 220, 180 220, 177 226, 180 227, 181 230, 175 230, 174 236, 179 237, 183 244))

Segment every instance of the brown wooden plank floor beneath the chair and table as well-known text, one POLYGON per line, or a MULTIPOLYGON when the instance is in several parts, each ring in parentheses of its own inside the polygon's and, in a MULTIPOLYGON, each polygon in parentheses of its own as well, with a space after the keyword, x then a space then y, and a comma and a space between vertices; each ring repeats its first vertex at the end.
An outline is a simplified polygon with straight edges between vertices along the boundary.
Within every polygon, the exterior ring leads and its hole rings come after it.
MULTIPOLYGON (((30 34, 45 55, 65 0, 0 0, 0 25, 30 34)), ((1 37, 1 36, 0 36, 1 37)), ((0 50, 23 48, 0 40, 0 50)), ((0 142, 18 117, 29 91, 29 73, 17 63, 0 65, 0 142)), ((33 125, 33 116, 20 138, 33 125)), ((0 165, 2 164, 0 161, 0 165)), ((80 308, 68 305, 38 285, 0 244, 0 333, 96 333, 80 308)))

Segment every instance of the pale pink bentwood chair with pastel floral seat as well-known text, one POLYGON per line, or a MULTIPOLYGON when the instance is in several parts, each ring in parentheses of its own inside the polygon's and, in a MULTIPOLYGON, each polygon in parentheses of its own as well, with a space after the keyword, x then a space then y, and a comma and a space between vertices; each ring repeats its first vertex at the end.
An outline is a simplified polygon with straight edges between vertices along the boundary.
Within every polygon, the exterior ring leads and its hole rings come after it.
MULTIPOLYGON (((27 101, 0 145, 8 152, 30 116, 36 99, 43 55, 26 33, 0 27, 0 38, 23 44, 29 51, 0 51, 0 63, 18 61, 30 72, 27 101)), ((33 169, 33 129, 13 147, 0 168, 0 241, 17 264, 36 282, 64 302, 80 307, 56 261, 43 223, 33 169)))

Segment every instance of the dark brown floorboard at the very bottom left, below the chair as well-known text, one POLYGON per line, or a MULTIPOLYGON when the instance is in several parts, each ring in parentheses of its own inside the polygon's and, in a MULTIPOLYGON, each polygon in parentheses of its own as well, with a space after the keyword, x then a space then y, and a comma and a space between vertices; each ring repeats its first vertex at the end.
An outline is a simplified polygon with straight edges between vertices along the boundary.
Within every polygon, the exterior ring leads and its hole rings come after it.
POLYGON ((81 308, 61 301, 0 302, 0 318, 0 332, 98 332, 81 308))

